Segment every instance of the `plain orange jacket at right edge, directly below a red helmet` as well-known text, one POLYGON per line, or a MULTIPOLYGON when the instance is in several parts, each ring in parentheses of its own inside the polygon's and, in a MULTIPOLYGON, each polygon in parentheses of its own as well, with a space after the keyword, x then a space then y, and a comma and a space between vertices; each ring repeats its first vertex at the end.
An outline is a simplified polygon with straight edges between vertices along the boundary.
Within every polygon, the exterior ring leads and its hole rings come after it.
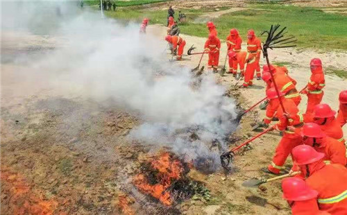
POLYGON ((328 119, 322 119, 325 123, 318 123, 321 126, 321 130, 325 132, 325 135, 337 139, 344 143, 344 131, 342 130, 339 121, 335 117, 330 117, 328 119))

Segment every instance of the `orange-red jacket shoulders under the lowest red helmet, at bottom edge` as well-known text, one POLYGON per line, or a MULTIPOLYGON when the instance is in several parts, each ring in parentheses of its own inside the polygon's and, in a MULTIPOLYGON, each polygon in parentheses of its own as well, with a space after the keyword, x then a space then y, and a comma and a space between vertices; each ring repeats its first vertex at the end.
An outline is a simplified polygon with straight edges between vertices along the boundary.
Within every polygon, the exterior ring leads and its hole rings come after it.
POLYGON ((291 205, 292 215, 328 215, 328 212, 322 212, 319 210, 317 200, 315 198, 303 201, 295 201, 291 205))

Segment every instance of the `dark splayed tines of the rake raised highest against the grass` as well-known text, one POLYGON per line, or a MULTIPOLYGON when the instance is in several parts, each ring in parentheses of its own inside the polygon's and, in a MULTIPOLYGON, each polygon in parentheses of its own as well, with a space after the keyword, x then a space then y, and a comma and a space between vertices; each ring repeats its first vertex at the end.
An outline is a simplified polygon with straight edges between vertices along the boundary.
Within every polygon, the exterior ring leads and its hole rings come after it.
POLYGON ((271 25, 269 31, 264 31, 261 34, 267 34, 266 42, 262 47, 264 56, 267 55, 267 49, 279 49, 296 46, 296 44, 292 44, 293 42, 297 41, 294 36, 285 38, 285 34, 287 33, 285 32, 285 29, 287 27, 282 28, 282 30, 279 30, 279 28, 279 24, 276 24, 275 26, 271 25))

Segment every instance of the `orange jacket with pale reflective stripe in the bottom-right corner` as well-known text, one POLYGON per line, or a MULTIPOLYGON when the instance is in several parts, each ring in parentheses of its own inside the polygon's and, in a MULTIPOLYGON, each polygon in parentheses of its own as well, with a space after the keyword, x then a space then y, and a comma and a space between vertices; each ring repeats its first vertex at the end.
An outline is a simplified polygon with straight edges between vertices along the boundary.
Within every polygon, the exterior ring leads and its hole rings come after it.
POLYGON ((318 191, 319 208, 330 214, 347 214, 347 169, 328 164, 312 169, 306 183, 318 191))

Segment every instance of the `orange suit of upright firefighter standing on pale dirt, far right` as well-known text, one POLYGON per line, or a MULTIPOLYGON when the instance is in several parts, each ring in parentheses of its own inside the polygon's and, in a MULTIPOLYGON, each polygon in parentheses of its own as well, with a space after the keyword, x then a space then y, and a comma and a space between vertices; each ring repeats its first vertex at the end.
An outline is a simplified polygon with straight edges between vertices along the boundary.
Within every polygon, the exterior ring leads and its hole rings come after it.
POLYGON ((323 87, 325 86, 324 74, 321 67, 312 70, 310 81, 307 89, 303 93, 307 94, 306 114, 312 114, 314 106, 321 103, 323 98, 323 87))

